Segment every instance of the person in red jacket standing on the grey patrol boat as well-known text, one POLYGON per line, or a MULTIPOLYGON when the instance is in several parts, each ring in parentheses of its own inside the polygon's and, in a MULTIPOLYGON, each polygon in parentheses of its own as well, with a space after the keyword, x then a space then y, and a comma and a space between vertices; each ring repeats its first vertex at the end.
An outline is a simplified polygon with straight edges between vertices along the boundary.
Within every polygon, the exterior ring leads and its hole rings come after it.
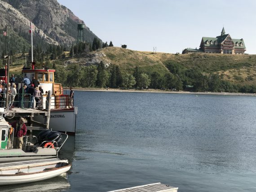
POLYGON ((13 148, 22 148, 23 136, 26 135, 25 119, 20 118, 19 121, 12 122, 11 126, 14 128, 13 148))

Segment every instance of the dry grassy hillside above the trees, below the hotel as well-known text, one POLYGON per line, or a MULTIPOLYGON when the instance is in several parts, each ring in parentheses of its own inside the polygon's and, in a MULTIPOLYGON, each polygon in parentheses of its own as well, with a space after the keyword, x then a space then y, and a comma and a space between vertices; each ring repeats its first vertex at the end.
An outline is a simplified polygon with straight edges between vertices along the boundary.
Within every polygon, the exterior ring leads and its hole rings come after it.
MULTIPOLYGON (((97 50, 102 52, 106 57, 101 59, 111 64, 119 65, 122 73, 133 73, 136 66, 141 72, 151 74, 158 71, 160 74, 168 72, 166 65, 175 63, 185 69, 196 68, 202 73, 217 73, 221 79, 241 85, 256 84, 256 55, 223 55, 223 54, 170 54, 152 52, 139 52, 119 47, 107 47, 97 50)), ((79 56, 71 59, 66 52, 66 58, 58 60, 59 63, 66 63, 71 60, 72 63, 82 63, 82 59, 88 56, 79 56)), ((53 61, 51 61, 53 62, 53 61)), ((22 61, 11 66, 11 71, 21 69, 22 61), (19 65, 20 64, 20 65, 19 65)))

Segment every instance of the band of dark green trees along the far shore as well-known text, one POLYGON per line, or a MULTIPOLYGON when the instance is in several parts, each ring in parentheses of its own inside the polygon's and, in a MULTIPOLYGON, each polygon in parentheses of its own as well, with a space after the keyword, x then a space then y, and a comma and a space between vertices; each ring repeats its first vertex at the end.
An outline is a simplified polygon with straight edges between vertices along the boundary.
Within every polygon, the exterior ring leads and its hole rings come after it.
POLYGON ((71 87, 110 87, 126 89, 162 89, 184 90, 196 92, 247 92, 255 93, 254 85, 235 85, 220 79, 218 74, 203 74, 197 69, 185 69, 181 65, 168 62, 170 72, 147 74, 135 67, 133 73, 121 73, 119 65, 106 67, 101 61, 99 65, 66 67, 53 65, 56 69, 55 80, 64 86, 71 87))

